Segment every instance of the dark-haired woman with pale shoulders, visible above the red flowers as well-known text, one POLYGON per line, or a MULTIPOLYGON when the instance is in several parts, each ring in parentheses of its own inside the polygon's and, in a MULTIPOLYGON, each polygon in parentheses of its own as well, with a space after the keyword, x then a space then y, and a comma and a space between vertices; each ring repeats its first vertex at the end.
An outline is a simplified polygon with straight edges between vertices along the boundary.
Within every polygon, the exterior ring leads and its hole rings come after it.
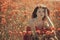
POLYGON ((49 10, 44 6, 37 6, 32 13, 32 20, 29 24, 33 31, 35 31, 35 26, 41 28, 42 26, 47 26, 46 14, 49 16, 49 10))

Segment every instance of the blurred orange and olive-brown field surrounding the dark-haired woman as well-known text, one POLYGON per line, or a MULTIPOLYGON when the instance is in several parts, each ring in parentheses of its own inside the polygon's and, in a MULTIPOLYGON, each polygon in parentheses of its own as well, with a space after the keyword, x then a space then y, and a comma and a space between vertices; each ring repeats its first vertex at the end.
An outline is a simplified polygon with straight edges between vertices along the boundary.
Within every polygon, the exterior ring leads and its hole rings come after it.
POLYGON ((51 20, 55 27, 59 28, 60 1, 0 0, 0 40, 23 40, 21 32, 26 30, 27 22, 31 19, 33 10, 40 4, 46 5, 50 11, 51 20))

